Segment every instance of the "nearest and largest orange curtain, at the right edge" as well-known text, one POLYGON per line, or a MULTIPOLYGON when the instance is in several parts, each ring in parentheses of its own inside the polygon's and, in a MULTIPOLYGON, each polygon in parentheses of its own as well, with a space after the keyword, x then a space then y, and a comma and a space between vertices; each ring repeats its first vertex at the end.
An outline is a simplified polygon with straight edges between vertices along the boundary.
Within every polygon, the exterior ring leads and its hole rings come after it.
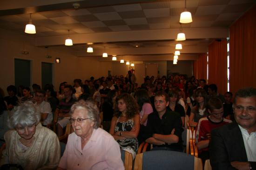
POLYGON ((256 87, 256 5, 229 28, 230 91, 256 87))

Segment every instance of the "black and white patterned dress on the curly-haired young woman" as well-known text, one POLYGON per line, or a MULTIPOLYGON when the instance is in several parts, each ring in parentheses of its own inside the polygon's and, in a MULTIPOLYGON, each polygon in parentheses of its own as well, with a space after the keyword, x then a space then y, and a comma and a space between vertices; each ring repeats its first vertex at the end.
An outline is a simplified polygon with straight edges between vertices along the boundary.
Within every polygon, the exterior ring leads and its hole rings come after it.
MULTIPOLYGON (((117 123, 115 125, 115 132, 117 131, 131 131, 134 127, 133 119, 128 119, 126 122, 119 122, 119 118, 117 119, 117 123)), ((130 152, 133 156, 136 155, 138 150, 138 139, 137 138, 126 138, 122 140, 117 140, 122 150, 126 150, 130 152)))

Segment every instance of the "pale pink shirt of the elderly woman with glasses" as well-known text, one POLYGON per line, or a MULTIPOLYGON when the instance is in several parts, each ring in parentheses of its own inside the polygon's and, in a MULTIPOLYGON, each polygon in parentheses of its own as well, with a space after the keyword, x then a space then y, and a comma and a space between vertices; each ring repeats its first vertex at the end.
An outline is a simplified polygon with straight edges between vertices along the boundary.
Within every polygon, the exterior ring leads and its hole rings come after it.
POLYGON ((81 137, 74 132, 70 134, 59 167, 66 170, 124 170, 119 144, 101 128, 94 129, 83 149, 81 137))

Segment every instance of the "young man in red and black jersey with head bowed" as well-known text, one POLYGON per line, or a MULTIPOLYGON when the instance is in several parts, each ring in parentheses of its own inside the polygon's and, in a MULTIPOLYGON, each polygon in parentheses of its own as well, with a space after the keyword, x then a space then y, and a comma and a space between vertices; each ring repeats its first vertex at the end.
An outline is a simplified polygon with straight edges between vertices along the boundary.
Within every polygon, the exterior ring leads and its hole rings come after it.
POLYGON ((223 118, 223 104, 219 98, 210 98, 208 102, 209 116, 199 119, 195 133, 195 143, 198 149, 198 156, 204 163, 209 159, 209 142, 211 131, 224 124, 231 123, 229 119, 223 118))

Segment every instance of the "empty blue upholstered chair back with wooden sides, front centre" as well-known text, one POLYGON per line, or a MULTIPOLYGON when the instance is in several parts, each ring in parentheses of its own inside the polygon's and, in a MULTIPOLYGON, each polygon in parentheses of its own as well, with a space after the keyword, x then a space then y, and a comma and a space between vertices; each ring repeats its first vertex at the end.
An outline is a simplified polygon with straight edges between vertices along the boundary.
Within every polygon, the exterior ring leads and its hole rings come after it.
POLYGON ((202 160, 183 152, 147 151, 136 156, 134 170, 202 170, 202 160))

